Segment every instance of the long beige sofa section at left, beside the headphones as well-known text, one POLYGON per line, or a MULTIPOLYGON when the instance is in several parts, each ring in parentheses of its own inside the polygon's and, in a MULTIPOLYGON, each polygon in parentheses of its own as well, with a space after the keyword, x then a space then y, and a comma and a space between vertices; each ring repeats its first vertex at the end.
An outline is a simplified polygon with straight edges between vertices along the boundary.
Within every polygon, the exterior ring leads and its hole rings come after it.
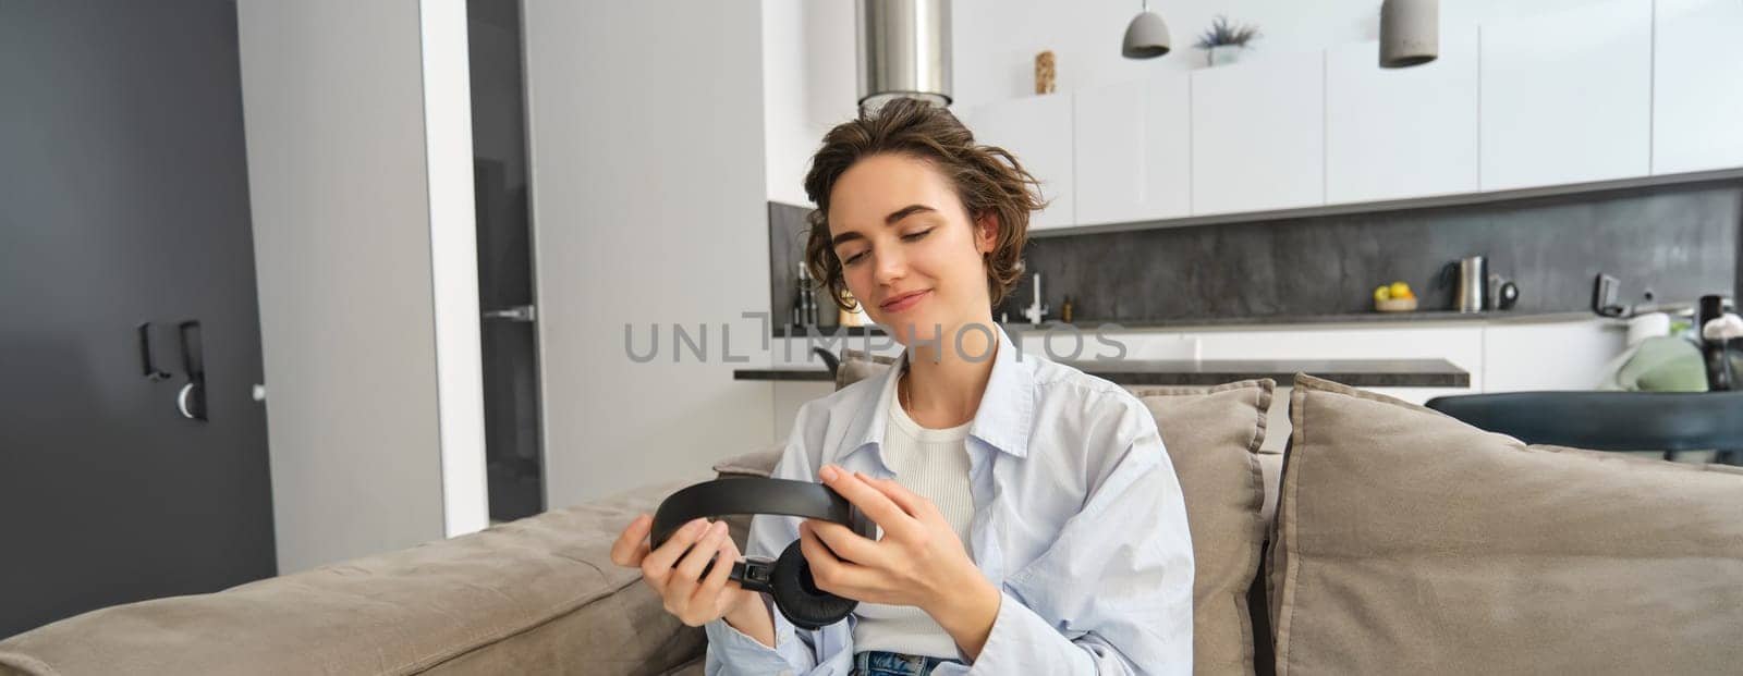
POLYGON ((232 587, 89 612, 0 641, 24 674, 661 674, 701 629, 610 547, 697 477, 232 587))

